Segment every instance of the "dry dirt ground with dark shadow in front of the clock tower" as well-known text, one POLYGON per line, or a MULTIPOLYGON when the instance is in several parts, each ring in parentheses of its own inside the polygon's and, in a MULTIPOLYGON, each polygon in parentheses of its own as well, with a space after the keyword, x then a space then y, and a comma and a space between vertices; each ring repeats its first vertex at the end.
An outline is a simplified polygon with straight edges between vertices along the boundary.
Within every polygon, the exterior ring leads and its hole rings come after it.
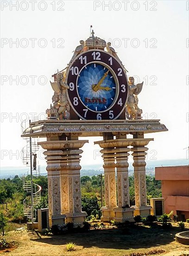
POLYGON ((175 234, 179 231, 176 227, 169 231, 137 227, 125 234, 120 229, 111 227, 87 233, 41 236, 34 231, 15 230, 8 232, 5 238, 7 241, 14 241, 16 248, 0 251, 0 255, 125 256, 132 252, 146 253, 152 249, 164 249, 165 252, 158 254, 159 256, 179 256, 181 253, 189 253, 189 246, 175 241, 175 234), (76 243, 75 251, 67 251, 66 243, 70 242, 76 243))

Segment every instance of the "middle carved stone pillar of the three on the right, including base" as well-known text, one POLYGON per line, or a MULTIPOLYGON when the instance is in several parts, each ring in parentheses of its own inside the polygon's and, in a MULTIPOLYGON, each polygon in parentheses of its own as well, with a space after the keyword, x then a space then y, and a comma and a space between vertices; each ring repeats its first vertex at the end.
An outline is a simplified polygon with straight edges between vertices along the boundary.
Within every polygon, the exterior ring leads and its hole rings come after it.
POLYGON ((130 207, 129 202, 129 175, 128 175, 128 156, 132 141, 129 139, 116 139, 116 168, 117 168, 117 189, 118 189, 118 207, 115 208, 115 221, 124 222, 133 221, 134 208, 130 207))

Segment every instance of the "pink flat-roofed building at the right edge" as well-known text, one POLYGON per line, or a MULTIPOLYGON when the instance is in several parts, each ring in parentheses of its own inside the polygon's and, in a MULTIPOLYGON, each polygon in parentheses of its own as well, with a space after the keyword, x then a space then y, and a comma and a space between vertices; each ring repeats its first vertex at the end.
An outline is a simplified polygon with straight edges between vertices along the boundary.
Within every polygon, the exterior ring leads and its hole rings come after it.
POLYGON ((165 213, 189 219, 189 166, 156 167, 155 179, 162 181, 165 213))

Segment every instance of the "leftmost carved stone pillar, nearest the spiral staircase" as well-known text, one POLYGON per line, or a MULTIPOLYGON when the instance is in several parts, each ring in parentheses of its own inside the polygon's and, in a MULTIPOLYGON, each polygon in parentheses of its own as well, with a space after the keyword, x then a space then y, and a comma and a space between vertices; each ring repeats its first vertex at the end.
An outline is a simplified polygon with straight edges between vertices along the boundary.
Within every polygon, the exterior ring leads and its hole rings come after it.
POLYGON ((49 224, 63 224, 66 216, 61 213, 60 170, 65 141, 44 141, 38 144, 47 150, 44 155, 48 173, 49 224))

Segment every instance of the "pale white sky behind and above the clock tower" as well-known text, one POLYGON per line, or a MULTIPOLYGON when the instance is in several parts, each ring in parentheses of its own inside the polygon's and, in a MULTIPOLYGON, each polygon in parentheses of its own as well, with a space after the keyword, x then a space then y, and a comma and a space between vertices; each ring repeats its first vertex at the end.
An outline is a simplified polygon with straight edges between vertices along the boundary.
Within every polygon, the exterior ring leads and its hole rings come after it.
MULTIPOLYGON (((160 119, 169 130, 145 135, 154 138, 148 160, 188 159, 189 1, 1 0, 0 10, 0 167, 22 166, 21 122, 44 119, 51 75, 67 66, 90 25, 112 43, 128 76, 144 81, 143 119, 160 119)), ((93 143, 102 138, 85 139, 81 165, 102 164, 93 143)))

